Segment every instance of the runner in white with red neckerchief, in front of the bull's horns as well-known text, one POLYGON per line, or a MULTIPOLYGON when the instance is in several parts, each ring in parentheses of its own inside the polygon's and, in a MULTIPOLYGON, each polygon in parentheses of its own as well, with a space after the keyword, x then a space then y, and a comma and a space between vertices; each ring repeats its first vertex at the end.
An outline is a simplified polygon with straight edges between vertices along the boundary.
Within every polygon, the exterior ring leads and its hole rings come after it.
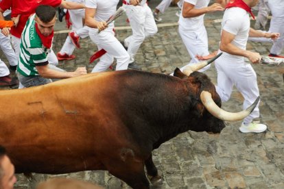
MULTIPOLYGON (((259 63, 261 55, 259 53, 246 50, 248 36, 278 38, 279 33, 263 33, 250 28, 250 8, 255 6, 258 0, 235 0, 229 1, 222 20, 220 52, 223 55, 215 60, 217 69, 216 90, 222 101, 228 101, 232 93, 233 86, 241 92, 244 97, 243 108, 248 106, 259 97, 257 86, 257 74, 252 66, 244 62, 244 57, 253 64, 259 63)), ((259 106, 244 119, 239 127, 243 133, 260 133, 267 129, 266 125, 253 121, 259 118, 259 106)))

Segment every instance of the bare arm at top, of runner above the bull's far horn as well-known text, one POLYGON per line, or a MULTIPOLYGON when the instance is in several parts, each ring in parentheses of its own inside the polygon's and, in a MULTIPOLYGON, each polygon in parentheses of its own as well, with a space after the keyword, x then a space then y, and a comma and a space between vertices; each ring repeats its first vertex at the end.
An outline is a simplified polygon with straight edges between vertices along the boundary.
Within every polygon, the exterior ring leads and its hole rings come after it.
POLYGON ((184 18, 193 18, 196 16, 200 16, 202 14, 206 14, 207 12, 215 12, 222 11, 224 8, 219 3, 214 3, 206 8, 196 9, 195 5, 191 3, 184 2, 182 7, 182 16, 184 18))

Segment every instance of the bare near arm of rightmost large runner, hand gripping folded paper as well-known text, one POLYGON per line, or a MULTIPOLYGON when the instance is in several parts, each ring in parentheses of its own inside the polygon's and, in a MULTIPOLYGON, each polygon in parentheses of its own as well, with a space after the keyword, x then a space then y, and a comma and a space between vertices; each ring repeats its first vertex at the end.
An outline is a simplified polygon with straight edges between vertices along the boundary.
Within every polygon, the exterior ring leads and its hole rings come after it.
POLYGON ((253 64, 259 63, 259 60, 261 60, 261 55, 259 55, 259 53, 240 49, 239 47, 232 44, 234 39, 234 34, 231 34, 230 32, 223 29, 221 34, 220 50, 231 55, 244 56, 248 58, 248 60, 250 60, 250 62, 252 62, 253 64))

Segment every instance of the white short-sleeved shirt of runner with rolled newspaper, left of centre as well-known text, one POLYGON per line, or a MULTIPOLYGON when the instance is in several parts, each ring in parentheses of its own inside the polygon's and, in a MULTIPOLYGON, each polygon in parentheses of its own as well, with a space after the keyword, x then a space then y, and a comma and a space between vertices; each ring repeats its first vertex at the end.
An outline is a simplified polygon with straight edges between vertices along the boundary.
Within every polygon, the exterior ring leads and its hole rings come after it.
MULTIPOLYGON (((96 9, 95 20, 102 22, 108 21, 110 16, 115 14, 117 10, 117 4, 119 0, 86 0, 86 8, 96 9)), ((113 23, 108 25, 108 27, 113 27, 113 23)))

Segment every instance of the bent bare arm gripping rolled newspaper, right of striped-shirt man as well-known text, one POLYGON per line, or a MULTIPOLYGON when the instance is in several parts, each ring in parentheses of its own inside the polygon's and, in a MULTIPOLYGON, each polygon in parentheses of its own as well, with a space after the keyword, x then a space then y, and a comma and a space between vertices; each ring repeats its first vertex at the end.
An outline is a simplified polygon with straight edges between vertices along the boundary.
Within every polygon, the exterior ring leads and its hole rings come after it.
POLYGON ((107 25, 106 22, 99 22, 95 20, 95 14, 97 12, 97 9, 95 8, 86 8, 85 10, 85 24, 88 27, 93 27, 99 29, 99 31, 102 31, 106 29, 107 25))

